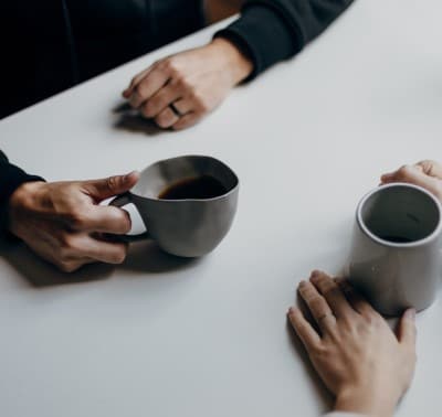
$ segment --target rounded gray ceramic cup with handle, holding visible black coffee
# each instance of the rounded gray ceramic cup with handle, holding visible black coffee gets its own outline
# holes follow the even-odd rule
[[[159,199],[169,186],[202,175],[214,178],[227,191],[211,199]],[[186,156],[146,168],[134,189],[110,204],[133,203],[143,218],[147,232],[126,235],[127,239],[152,238],[169,254],[199,257],[213,250],[229,232],[238,195],[239,179],[227,164],[211,157]]]

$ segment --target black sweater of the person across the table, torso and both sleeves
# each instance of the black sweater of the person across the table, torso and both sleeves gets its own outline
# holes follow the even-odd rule
[[[215,36],[231,40],[251,57],[253,78],[299,52],[351,2],[249,0],[240,19]],[[3,1],[0,118],[201,25],[200,0]],[[0,229],[10,195],[35,180],[41,179],[0,153]]]

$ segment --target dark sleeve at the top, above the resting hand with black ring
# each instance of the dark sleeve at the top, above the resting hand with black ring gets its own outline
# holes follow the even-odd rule
[[[298,53],[352,0],[248,0],[240,19],[218,32],[254,64],[250,78]]]

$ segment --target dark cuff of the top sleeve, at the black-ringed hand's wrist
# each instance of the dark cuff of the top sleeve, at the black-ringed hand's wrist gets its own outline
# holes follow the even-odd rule
[[[240,19],[214,36],[228,39],[252,60],[254,68],[246,81],[273,64],[292,57],[303,47],[302,40],[293,35],[293,29],[276,11],[257,4],[245,8]]]

